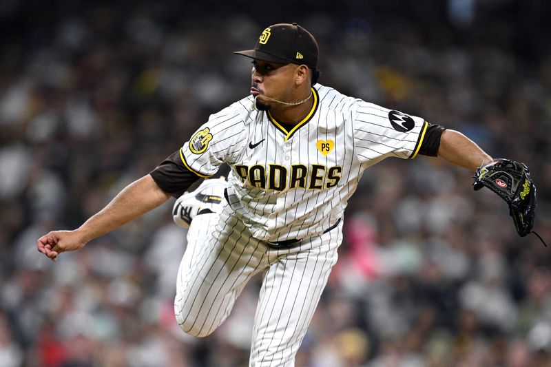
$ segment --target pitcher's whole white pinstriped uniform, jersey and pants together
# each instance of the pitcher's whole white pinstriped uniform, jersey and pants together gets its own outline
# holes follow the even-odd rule
[[[202,176],[215,174],[222,162],[232,170],[222,213],[191,222],[176,319],[186,333],[209,335],[251,277],[263,273],[251,366],[293,366],[337,261],[340,219],[364,170],[387,157],[413,158],[426,127],[422,118],[329,87],[318,84],[313,92],[313,109],[298,129],[287,131],[258,112],[249,96],[200,127],[200,138],[211,134],[208,146],[196,139],[193,151],[189,142],[180,150]],[[300,246],[290,249],[267,243],[295,238]]]

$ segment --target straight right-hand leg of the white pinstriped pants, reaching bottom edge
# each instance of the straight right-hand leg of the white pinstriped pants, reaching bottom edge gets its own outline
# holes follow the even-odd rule
[[[255,315],[251,366],[294,366],[331,268],[337,262],[342,224],[288,251],[269,249]]]

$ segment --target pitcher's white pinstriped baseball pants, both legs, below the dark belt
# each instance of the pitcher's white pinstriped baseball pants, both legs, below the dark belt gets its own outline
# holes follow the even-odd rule
[[[231,208],[196,216],[189,228],[174,301],[176,320],[204,337],[228,317],[245,284],[263,272],[250,366],[294,366],[342,242],[342,221],[291,249],[253,238]]]

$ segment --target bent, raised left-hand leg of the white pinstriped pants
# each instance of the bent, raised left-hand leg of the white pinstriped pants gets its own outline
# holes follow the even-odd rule
[[[229,208],[196,216],[187,240],[174,312],[185,333],[203,337],[224,322],[245,284],[267,266],[267,255]]]

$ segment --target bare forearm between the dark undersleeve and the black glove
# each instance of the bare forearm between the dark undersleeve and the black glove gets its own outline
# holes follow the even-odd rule
[[[444,130],[442,133],[438,156],[472,172],[476,171],[484,163],[493,160],[475,142],[460,132],[449,129]]]

